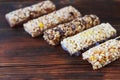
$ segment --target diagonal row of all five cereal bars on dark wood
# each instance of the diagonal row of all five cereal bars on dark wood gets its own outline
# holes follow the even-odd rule
[[[120,37],[108,40],[116,36],[116,30],[109,23],[100,24],[96,15],[81,17],[72,6],[56,10],[55,4],[47,0],[12,11],[5,17],[11,27],[23,24],[32,37],[43,34],[50,45],[61,44],[70,55],[82,53],[93,69],[120,58]]]

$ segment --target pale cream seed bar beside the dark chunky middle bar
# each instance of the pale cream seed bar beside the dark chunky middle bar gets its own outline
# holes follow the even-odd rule
[[[71,55],[80,54],[97,42],[116,35],[116,30],[109,23],[102,23],[61,41],[61,46]]]

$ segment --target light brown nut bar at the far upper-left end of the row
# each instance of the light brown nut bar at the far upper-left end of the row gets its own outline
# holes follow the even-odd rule
[[[55,4],[53,4],[49,0],[46,0],[29,7],[12,11],[6,14],[5,17],[10,26],[15,27],[16,25],[23,24],[30,19],[39,17],[43,14],[50,13],[55,9]]]

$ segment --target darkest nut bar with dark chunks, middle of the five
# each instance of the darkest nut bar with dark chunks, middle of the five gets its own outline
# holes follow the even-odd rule
[[[58,45],[64,38],[75,35],[99,23],[100,20],[96,15],[85,15],[84,17],[78,17],[71,22],[46,30],[43,37],[50,45],[54,46]]]

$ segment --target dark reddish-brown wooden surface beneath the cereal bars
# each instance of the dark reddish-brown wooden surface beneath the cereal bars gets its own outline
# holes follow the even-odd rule
[[[83,15],[96,14],[120,35],[120,0],[52,0],[57,9],[73,5]],[[120,59],[93,71],[87,61],[71,57],[60,46],[41,37],[31,38],[22,28],[12,29],[7,12],[40,0],[0,0],[0,80],[120,80]]]

